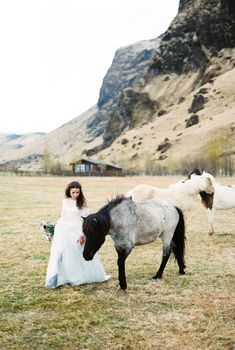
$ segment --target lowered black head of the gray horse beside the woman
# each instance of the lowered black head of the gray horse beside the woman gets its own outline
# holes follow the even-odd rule
[[[105,236],[110,228],[108,218],[91,214],[84,218],[83,233],[85,235],[85,244],[83,257],[85,260],[92,260],[95,253],[100,249],[105,241]]]

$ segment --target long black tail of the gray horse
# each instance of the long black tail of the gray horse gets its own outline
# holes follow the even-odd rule
[[[175,255],[176,260],[180,258],[180,260],[183,262],[185,267],[185,260],[184,260],[184,253],[185,253],[185,221],[184,221],[184,215],[182,210],[175,207],[179,214],[179,221],[175,228],[175,232],[172,238],[172,250]]]

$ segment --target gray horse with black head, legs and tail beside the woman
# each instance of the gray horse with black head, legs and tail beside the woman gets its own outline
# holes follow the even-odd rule
[[[163,200],[135,203],[131,198],[117,196],[97,213],[84,218],[83,232],[86,240],[83,250],[85,260],[92,260],[110,234],[118,253],[118,279],[120,288],[127,288],[125,260],[135,245],[162,240],[162,262],[153,278],[161,278],[173,251],[184,275],[185,225],[180,209]]]

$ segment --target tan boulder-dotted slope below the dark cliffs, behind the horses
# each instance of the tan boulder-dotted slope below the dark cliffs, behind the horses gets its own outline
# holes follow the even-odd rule
[[[208,169],[206,159],[224,155],[235,164],[234,86],[235,68],[182,96],[166,114],[126,128],[99,156],[128,169],[159,173],[196,165]]]

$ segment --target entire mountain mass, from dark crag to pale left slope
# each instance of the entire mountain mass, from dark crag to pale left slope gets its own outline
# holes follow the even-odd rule
[[[117,50],[97,106],[9,160],[24,166],[45,147],[65,163],[83,154],[140,170],[182,168],[214,146],[234,158],[234,86],[234,1],[181,0],[163,35]]]

